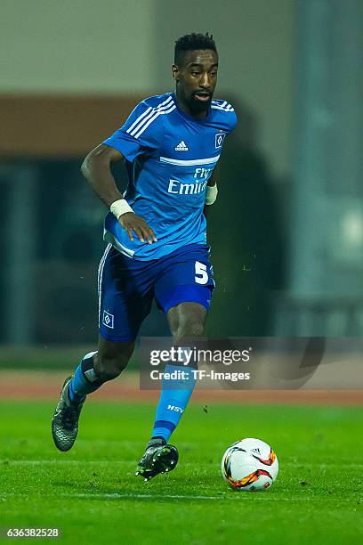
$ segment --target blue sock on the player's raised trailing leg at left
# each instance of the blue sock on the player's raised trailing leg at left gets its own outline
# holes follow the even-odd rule
[[[71,403],[83,403],[85,396],[98,390],[103,381],[97,378],[93,369],[93,355],[97,352],[85,354],[84,359],[77,367],[75,376],[69,383],[69,401]]]

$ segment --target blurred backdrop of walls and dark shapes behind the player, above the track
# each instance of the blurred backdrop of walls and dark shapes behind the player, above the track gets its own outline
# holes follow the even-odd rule
[[[80,166],[137,102],[173,90],[174,41],[192,31],[214,34],[215,98],[239,118],[208,225],[209,335],[361,335],[361,0],[0,9],[2,362],[13,346],[95,345],[105,208]],[[155,308],[142,333],[167,334]]]

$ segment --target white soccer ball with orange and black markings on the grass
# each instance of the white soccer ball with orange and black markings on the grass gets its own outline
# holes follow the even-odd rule
[[[260,439],[242,439],[224,452],[222,476],[233,490],[264,491],[278,476],[278,458]]]

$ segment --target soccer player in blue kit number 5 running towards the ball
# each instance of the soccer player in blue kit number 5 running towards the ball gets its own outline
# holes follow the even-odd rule
[[[173,346],[203,334],[214,290],[204,207],[216,199],[213,170],[237,122],[228,102],[212,100],[217,69],[212,36],[179,38],[172,66],[175,91],[138,104],[82,165],[87,182],[109,208],[104,227],[109,244],[98,273],[98,349],[66,379],[52,419],[60,451],[69,451],[76,441],[86,395],[125,369],[153,298],[166,314]],[[124,195],[111,173],[122,160],[129,177]],[[180,370],[178,364],[183,362],[168,363],[165,371]],[[162,383],[136,475],[148,480],[176,466],[178,451],[168,441],[194,382],[183,380],[180,388]]]

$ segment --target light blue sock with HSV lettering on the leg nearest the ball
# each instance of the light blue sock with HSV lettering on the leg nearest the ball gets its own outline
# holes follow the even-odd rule
[[[173,371],[184,372],[186,373],[184,376],[188,376],[188,378],[183,379],[182,375],[179,375],[181,378],[176,380],[163,378],[152,437],[163,437],[166,443],[175,427],[178,426],[196,384],[190,367],[170,363],[165,365],[165,373]]]

